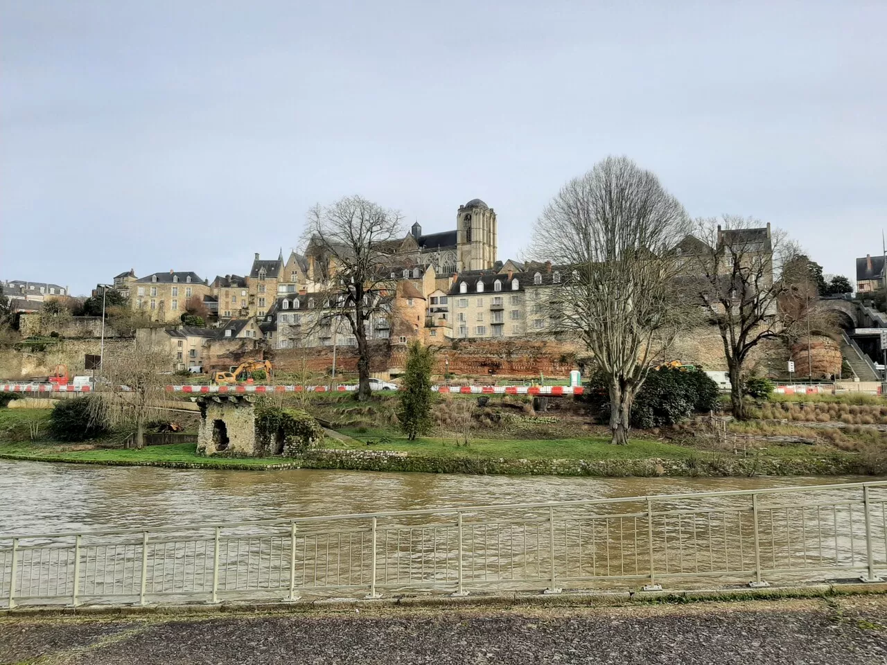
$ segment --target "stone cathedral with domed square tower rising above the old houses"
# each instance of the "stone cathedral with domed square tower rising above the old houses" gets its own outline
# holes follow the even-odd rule
[[[456,212],[456,229],[422,235],[414,223],[404,246],[406,252],[418,250],[418,262],[433,266],[439,276],[465,270],[490,270],[496,263],[496,212],[480,199],[472,199]],[[412,252],[411,252],[412,250]]]

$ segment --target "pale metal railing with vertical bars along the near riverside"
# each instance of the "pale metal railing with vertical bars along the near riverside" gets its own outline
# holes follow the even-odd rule
[[[876,581],[885,505],[878,481],[0,536],[0,603]]]

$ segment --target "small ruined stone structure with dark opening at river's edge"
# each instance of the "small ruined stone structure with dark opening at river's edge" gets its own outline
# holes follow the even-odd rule
[[[203,455],[226,452],[257,454],[255,406],[252,397],[214,395],[198,401],[200,426],[197,451]]]

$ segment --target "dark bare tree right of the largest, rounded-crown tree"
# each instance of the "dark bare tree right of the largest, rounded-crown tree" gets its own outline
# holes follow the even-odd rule
[[[809,322],[816,285],[797,261],[797,246],[781,231],[751,218],[699,219],[684,243],[689,295],[718,326],[730,373],[730,401],[745,419],[742,381],[751,351],[763,340],[797,331]]]

